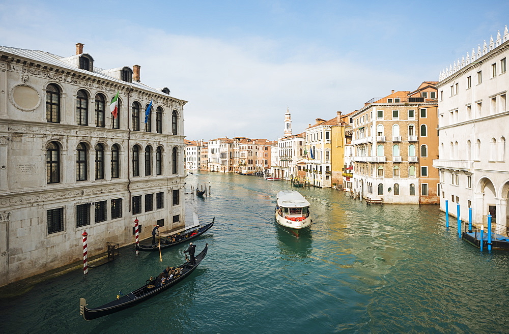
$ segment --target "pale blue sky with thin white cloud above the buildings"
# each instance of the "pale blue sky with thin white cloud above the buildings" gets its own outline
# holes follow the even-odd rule
[[[187,139],[277,140],[439,72],[509,24],[509,1],[0,0],[0,45],[102,69],[140,65],[184,107]]]

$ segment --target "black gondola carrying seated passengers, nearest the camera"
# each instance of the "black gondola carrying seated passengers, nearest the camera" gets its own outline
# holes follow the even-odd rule
[[[92,320],[99,317],[103,317],[105,315],[109,315],[118,311],[125,310],[134,306],[142,301],[149,299],[150,297],[155,296],[156,294],[168,289],[169,287],[177,284],[178,282],[184,280],[194,269],[202,262],[205,255],[207,255],[208,244],[205,244],[205,248],[203,251],[195,257],[195,265],[191,265],[190,261],[185,262],[180,265],[178,268],[181,269],[181,274],[175,278],[172,278],[169,282],[160,285],[158,279],[151,279],[147,284],[143,287],[134,290],[126,295],[121,296],[114,301],[110,301],[103,306],[97,308],[87,308],[87,300],[85,298],[79,298],[79,314],[83,316],[85,320]],[[187,257],[187,256],[186,256]]]

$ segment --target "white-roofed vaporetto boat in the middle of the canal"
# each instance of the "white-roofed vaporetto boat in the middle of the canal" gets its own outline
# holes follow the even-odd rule
[[[296,236],[309,227],[313,220],[309,215],[309,202],[298,191],[284,190],[276,196],[276,221]]]

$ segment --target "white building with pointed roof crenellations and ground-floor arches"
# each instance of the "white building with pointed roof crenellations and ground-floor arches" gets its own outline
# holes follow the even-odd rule
[[[507,58],[509,32],[497,34],[477,51],[440,72],[439,159],[440,208],[468,221],[468,208],[477,226],[487,225],[493,216],[493,230],[507,233],[507,196],[509,161],[506,140],[509,136],[509,89]]]

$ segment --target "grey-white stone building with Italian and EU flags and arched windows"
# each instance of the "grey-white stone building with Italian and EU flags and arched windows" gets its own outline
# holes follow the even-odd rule
[[[134,242],[136,218],[141,238],[185,224],[186,101],[82,48],[0,46],[0,285],[82,259],[84,231],[93,256]]]

